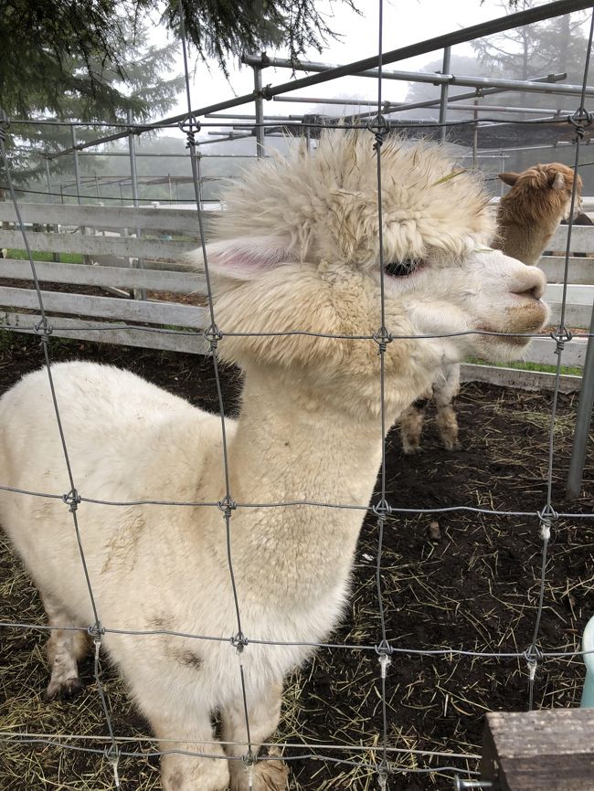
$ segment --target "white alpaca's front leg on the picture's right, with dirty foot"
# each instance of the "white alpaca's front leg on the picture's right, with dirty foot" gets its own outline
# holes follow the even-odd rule
[[[259,753],[257,746],[273,733],[281,719],[282,684],[271,684],[267,689],[249,695],[248,721],[249,736],[251,739],[254,757]],[[231,775],[230,791],[248,791],[249,767],[240,757],[248,753],[248,733],[246,727],[246,713],[243,701],[228,703],[221,710],[223,720],[223,742],[225,751],[231,760],[229,772]],[[269,752],[280,754],[279,751]],[[251,768],[251,782],[253,791],[284,791],[287,787],[289,771],[280,759],[267,759],[259,761]]]

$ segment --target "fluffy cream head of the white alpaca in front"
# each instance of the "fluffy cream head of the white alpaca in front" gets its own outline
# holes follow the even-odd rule
[[[493,216],[474,174],[447,149],[390,138],[381,149],[385,321],[392,335],[535,332],[545,279],[486,245]],[[260,161],[230,188],[207,248],[224,359],[274,366],[341,403],[378,405],[377,153],[369,132]],[[290,334],[301,331],[301,334]],[[232,332],[285,333],[281,336]],[[334,340],[313,334],[373,336]],[[517,356],[525,339],[479,334],[388,341],[386,392],[402,409],[438,365]],[[390,406],[388,405],[388,406]]]

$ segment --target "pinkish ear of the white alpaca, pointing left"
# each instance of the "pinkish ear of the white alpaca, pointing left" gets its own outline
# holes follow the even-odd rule
[[[200,248],[190,253],[190,258],[195,266],[204,267]],[[296,260],[289,237],[238,237],[207,245],[208,270],[224,278],[249,280]]]

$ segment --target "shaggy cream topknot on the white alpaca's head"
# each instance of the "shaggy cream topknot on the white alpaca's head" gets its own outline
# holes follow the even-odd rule
[[[396,134],[381,148],[384,257],[461,256],[488,243],[493,214],[482,179],[447,146]],[[284,237],[301,260],[377,264],[377,153],[367,131],[324,132],[312,153],[296,145],[260,160],[223,196],[218,239]]]

